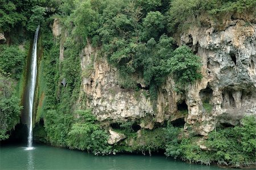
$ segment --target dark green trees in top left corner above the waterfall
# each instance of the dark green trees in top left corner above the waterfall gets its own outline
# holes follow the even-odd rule
[[[26,27],[28,31],[34,32],[48,15],[58,9],[59,2],[56,0],[1,0],[0,28],[2,31],[10,32],[14,27]]]

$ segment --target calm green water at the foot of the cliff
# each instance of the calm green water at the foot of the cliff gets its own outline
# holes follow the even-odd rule
[[[50,146],[3,146],[0,148],[0,169],[161,169],[161,170],[212,170],[216,166],[187,164],[166,159],[165,156],[111,155],[94,156]]]

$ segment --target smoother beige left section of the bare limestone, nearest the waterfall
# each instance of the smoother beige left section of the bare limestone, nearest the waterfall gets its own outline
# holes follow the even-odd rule
[[[97,50],[89,43],[81,58],[86,105],[92,108],[98,120],[135,119],[154,113],[150,98],[144,96],[143,90],[122,89],[118,85],[115,68],[110,67],[106,59],[98,59]]]

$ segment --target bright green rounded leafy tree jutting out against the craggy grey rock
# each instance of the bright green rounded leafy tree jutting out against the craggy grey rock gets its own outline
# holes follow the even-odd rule
[[[190,48],[181,46],[174,51],[174,56],[168,59],[168,71],[170,71],[180,85],[195,82],[202,78],[200,73],[200,57],[193,55]]]

